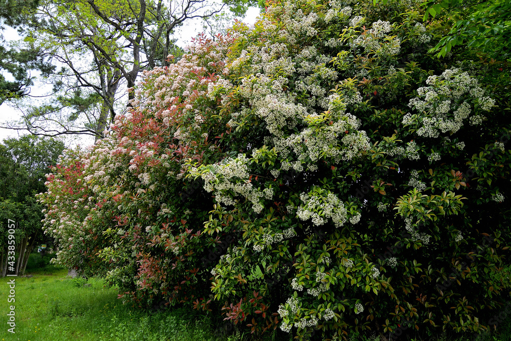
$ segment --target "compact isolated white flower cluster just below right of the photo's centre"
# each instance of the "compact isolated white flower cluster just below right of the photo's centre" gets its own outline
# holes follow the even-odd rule
[[[312,218],[313,224],[318,226],[331,218],[335,226],[339,228],[347,219],[344,204],[331,192],[328,192],[326,196],[317,192],[312,192],[310,195],[301,193],[300,199],[304,204],[298,207],[296,215],[301,220]]]

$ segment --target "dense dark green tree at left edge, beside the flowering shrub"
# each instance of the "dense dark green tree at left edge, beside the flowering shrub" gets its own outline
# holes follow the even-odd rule
[[[2,277],[8,268],[7,220],[16,222],[16,267],[21,274],[27,266],[28,256],[37,242],[43,240],[43,206],[36,202],[35,194],[45,192],[44,185],[50,166],[57,163],[64,144],[54,139],[41,139],[26,135],[19,139],[6,139],[0,144],[0,248]]]

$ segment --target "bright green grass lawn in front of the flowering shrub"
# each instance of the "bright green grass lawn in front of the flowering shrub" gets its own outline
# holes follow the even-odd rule
[[[117,292],[103,281],[67,278],[66,269],[47,267],[32,271],[32,278],[16,277],[15,303],[7,303],[11,278],[0,279],[0,340],[22,341],[245,341],[248,334],[226,332],[207,317],[184,309],[151,314],[123,306]],[[9,306],[15,305],[16,333],[7,332]],[[354,335],[353,335],[354,336]],[[268,340],[281,341],[276,334]],[[286,341],[288,338],[286,338]],[[474,341],[474,337],[440,337],[427,341]],[[511,340],[511,316],[499,333],[477,341]],[[350,341],[380,341],[352,337]],[[417,340],[418,341],[418,340]],[[426,340],[424,340],[426,341]]]

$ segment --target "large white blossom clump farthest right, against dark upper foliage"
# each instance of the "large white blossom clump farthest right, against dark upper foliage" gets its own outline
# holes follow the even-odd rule
[[[453,134],[467,119],[470,124],[479,125],[485,118],[475,111],[474,104],[482,111],[490,111],[495,104],[494,99],[484,96],[475,78],[458,68],[446,70],[439,76],[429,76],[426,84],[428,86],[417,89],[419,96],[408,103],[418,114],[408,113],[403,118],[405,126],[418,128],[419,136],[436,138],[440,133]],[[434,158],[430,156],[430,161]]]

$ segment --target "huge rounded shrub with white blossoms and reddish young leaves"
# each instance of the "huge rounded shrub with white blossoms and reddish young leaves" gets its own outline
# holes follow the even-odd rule
[[[354,3],[271,3],[146,71],[39,196],[56,261],[254,333],[490,328],[511,285],[508,75],[433,59],[442,22],[413,0]]]

